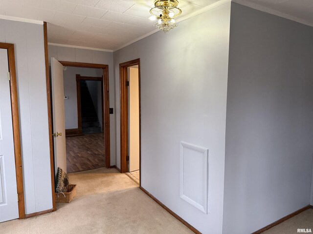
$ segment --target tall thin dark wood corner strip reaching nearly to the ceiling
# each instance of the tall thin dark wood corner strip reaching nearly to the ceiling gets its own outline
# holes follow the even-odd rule
[[[47,105],[48,105],[48,131],[49,131],[49,150],[50,150],[50,171],[51,171],[51,191],[52,191],[52,211],[56,211],[56,203],[54,196],[54,157],[53,157],[53,139],[52,139],[52,111],[51,111],[51,93],[50,93],[50,76],[49,76],[49,59],[48,59],[48,36],[47,22],[44,22],[44,43],[45,43],[45,82],[47,90]]]

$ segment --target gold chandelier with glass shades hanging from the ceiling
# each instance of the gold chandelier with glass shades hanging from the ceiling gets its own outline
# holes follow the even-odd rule
[[[151,8],[149,20],[156,20],[153,24],[164,33],[177,27],[175,17],[181,14],[177,7],[178,0],[155,0],[155,7]]]

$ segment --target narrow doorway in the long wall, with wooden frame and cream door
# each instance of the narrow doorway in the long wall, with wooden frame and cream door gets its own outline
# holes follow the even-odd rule
[[[120,64],[121,172],[140,185],[140,59]]]

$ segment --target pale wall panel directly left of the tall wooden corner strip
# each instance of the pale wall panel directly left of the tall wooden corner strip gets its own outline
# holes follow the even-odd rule
[[[51,209],[51,174],[43,27],[26,24],[28,82],[33,145],[36,212]]]

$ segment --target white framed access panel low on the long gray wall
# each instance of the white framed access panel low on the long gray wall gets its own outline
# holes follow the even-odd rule
[[[207,214],[209,150],[180,142],[180,198]]]

